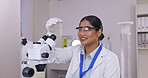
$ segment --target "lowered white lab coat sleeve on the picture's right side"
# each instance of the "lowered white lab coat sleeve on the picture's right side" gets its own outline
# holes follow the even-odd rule
[[[110,53],[106,59],[104,78],[120,78],[119,60],[114,53]]]

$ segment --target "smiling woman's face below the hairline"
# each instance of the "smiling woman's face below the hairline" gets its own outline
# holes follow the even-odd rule
[[[83,20],[80,23],[80,27],[91,27],[92,26],[89,21]],[[101,36],[101,30],[99,29],[96,31],[95,29],[90,29],[90,30],[84,30],[83,28],[78,32],[78,37],[82,45],[84,46],[92,46],[92,45],[98,45],[98,38]]]

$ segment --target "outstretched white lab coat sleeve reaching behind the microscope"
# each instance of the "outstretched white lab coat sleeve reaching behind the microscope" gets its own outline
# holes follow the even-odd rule
[[[73,50],[78,46],[70,46],[66,48],[54,48],[50,53],[48,63],[69,63],[73,56]]]

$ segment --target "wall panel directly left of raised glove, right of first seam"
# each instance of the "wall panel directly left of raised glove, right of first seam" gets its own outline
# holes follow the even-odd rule
[[[33,38],[39,40],[47,33],[46,21],[49,19],[49,0],[34,0],[33,4]]]

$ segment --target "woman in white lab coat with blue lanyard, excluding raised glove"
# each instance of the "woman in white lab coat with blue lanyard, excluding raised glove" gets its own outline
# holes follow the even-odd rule
[[[78,29],[81,45],[55,48],[50,63],[70,63],[66,78],[120,78],[118,57],[105,49],[101,20],[93,15],[84,17]]]

